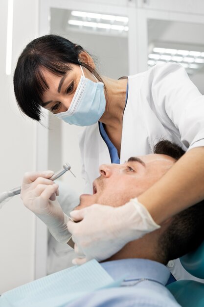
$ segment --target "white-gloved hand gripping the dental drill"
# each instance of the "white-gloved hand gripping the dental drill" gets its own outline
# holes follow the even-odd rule
[[[48,179],[52,175],[52,171],[25,173],[21,198],[23,204],[47,225],[58,242],[67,243],[71,237],[67,228],[68,216],[56,201],[58,184]]]

